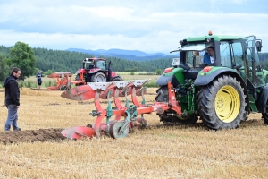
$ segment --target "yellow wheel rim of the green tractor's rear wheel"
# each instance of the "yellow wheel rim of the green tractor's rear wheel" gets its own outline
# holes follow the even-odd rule
[[[216,94],[214,107],[217,116],[224,123],[230,123],[239,115],[239,93],[231,86],[222,87]]]

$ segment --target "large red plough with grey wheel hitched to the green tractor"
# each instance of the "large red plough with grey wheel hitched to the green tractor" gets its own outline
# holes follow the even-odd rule
[[[128,135],[130,130],[137,127],[147,127],[147,121],[144,114],[157,112],[163,114],[166,110],[176,111],[181,115],[181,108],[175,99],[175,93],[172,90],[172,84],[168,83],[169,102],[155,102],[153,105],[146,105],[144,94],[146,88],[143,85],[149,80],[136,81],[113,81],[113,82],[88,82],[87,85],[77,86],[71,90],[62,93],[63,98],[72,100],[88,100],[95,101],[96,110],[90,115],[96,116],[95,124],[88,126],[71,127],[63,130],[63,136],[70,139],[80,139],[81,137],[100,137],[101,135],[109,135],[114,139],[123,138]],[[133,105],[129,105],[128,95],[131,95]],[[137,96],[142,97],[141,103]],[[111,105],[111,98],[115,107]],[[119,97],[125,98],[125,105],[121,104]],[[100,103],[101,99],[107,100],[107,107],[104,108]],[[114,119],[111,117],[114,115]],[[138,115],[140,115],[138,117]],[[121,119],[123,118],[123,119]]]

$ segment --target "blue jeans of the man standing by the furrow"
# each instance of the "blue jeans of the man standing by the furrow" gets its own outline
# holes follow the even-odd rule
[[[13,130],[20,130],[17,121],[18,121],[18,107],[16,105],[7,106],[7,119],[4,126],[4,131],[10,131],[11,125],[13,125]]]

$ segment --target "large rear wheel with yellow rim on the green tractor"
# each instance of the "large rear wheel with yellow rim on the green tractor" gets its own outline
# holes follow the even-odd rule
[[[198,93],[198,112],[203,123],[214,130],[235,129],[247,119],[246,96],[236,78],[223,75]]]

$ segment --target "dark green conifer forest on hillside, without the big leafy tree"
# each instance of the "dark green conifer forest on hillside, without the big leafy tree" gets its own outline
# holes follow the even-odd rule
[[[11,47],[0,46],[0,54],[6,58]],[[94,57],[80,52],[70,52],[65,50],[52,50],[46,48],[32,48],[37,57],[36,67],[43,72],[52,70],[55,72],[76,72],[82,67],[82,60],[86,57]],[[264,69],[268,69],[268,53],[260,53],[260,61]],[[104,56],[98,56],[104,57]],[[104,57],[108,62],[112,61],[112,69],[115,72],[155,72],[157,69],[164,70],[172,66],[172,57],[163,59],[130,61],[116,57]]]

